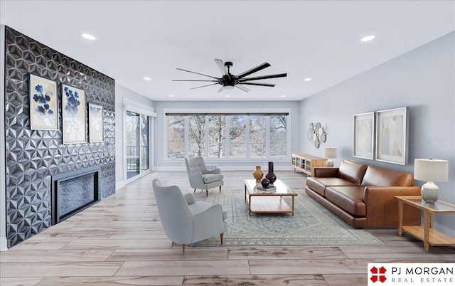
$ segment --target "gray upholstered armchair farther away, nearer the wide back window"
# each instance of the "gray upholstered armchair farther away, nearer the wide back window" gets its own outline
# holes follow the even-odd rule
[[[223,174],[220,169],[208,170],[205,167],[202,157],[185,158],[186,171],[188,171],[188,180],[191,188],[205,190],[205,196],[208,196],[208,190],[223,186]]]

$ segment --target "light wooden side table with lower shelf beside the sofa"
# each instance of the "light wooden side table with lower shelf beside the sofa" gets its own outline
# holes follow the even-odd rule
[[[401,236],[402,231],[406,231],[419,240],[423,240],[426,251],[429,250],[429,245],[455,245],[455,238],[433,229],[434,214],[455,213],[455,205],[445,201],[425,203],[421,196],[395,196],[395,198],[398,200],[398,235]],[[405,203],[423,211],[423,226],[403,226],[403,206]]]

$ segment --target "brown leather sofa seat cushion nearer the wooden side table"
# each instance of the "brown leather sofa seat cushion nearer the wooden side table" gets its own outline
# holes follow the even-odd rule
[[[326,198],[353,216],[366,216],[362,186],[328,186]]]

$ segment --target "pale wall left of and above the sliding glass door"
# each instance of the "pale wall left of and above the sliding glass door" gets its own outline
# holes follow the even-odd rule
[[[154,101],[139,95],[139,93],[115,84],[115,183],[116,189],[123,186],[126,181],[124,176],[126,161],[124,161],[123,148],[123,120],[124,104],[137,105],[147,110],[153,110]]]

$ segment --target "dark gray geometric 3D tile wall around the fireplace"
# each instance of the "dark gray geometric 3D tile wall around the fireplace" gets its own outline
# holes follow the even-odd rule
[[[101,165],[101,198],[115,192],[115,81],[5,27],[6,238],[8,247],[51,226],[51,176]],[[63,144],[59,130],[31,130],[28,73],[85,90],[104,109],[105,142]],[[88,128],[87,128],[88,130]],[[88,136],[88,134],[87,134]]]

